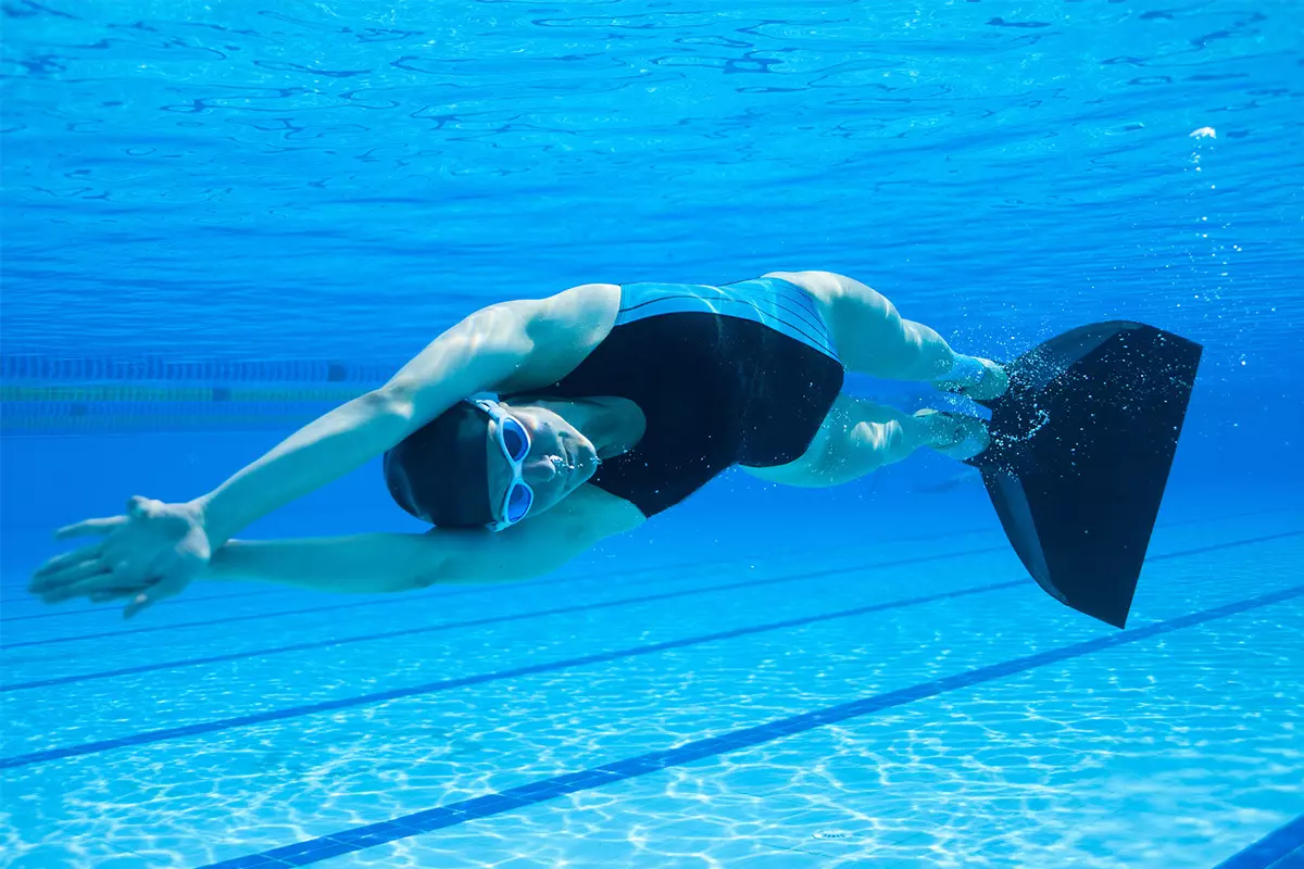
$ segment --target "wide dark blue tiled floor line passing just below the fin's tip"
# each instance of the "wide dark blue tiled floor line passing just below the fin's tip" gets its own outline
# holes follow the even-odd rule
[[[1072,661],[1073,658],[1081,658],[1097,651],[1103,651],[1106,649],[1115,649],[1132,642],[1150,640],[1164,633],[1180,631],[1181,628],[1191,628],[1197,624],[1226,619],[1231,615],[1257,610],[1273,603],[1282,603],[1299,597],[1304,597],[1304,585],[1296,585],[1290,589],[1261,594],[1245,601],[1236,601],[1235,603],[1202,610],[1200,612],[1179,616],[1176,619],[1168,619],[1167,621],[1157,621],[1154,624],[1145,625],[1144,628],[1131,628],[1119,633],[1095,637],[1094,640],[1086,640],[1084,642],[1060,646],[1059,649],[1041,651],[1034,655],[1015,658],[990,667],[978,667],[977,670],[969,670],[953,676],[944,676],[941,679],[911,685],[909,688],[889,691],[887,693],[865,697],[862,700],[853,700],[848,704],[829,706],[827,709],[805,713],[802,715],[793,715],[792,718],[782,718],[765,724],[758,724],[756,727],[732,731],[721,736],[700,739],[686,745],[681,745],[679,748],[648,752],[647,754],[627,757],[625,760],[604,763],[602,766],[595,766],[578,773],[567,773],[565,775],[539,779],[529,782],[528,784],[499,791],[497,793],[488,793],[471,800],[450,803],[449,805],[426,809],[424,812],[413,812],[412,814],[404,814],[391,821],[369,823],[366,826],[342,830],[327,836],[309,839],[297,844],[273,848],[262,853],[209,864],[206,866],[201,866],[201,869],[253,869],[254,866],[279,869],[284,865],[306,866],[329,857],[353,853],[365,848],[394,842],[396,839],[406,839],[422,833],[443,830],[459,823],[466,823],[467,821],[477,821],[481,818],[490,818],[497,814],[505,814],[514,809],[546,803],[548,800],[553,800],[567,793],[589,791],[614,782],[623,782],[640,775],[647,775],[648,773],[657,773],[664,769],[682,766],[685,763],[702,761],[709,757],[717,757],[720,754],[735,752],[743,748],[755,748],[756,745],[763,745],[794,734],[805,734],[807,731],[824,727],[825,724],[836,724],[838,722],[850,720],[862,715],[879,713],[885,709],[905,706],[918,700],[927,700],[930,697],[936,697],[961,688],[971,688],[995,679],[1028,672],[1029,670],[1034,670],[1037,667],[1061,663]],[[1249,869],[1249,865],[1251,864],[1237,866],[1237,869]],[[1264,864],[1253,865],[1256,865],[1257,869]]]

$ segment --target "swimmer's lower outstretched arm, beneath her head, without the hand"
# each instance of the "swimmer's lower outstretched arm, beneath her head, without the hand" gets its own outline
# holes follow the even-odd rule
[[[231,541],[213,555],[203,578],[359,594],[524,580],[549,573],[642,521],[634,504],[582,486],[546,513],[498,534],[434,529],[425,534]]]

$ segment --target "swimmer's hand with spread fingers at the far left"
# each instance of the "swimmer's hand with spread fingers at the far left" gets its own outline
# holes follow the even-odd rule
[[[46,562],[29,589],[46,603],[85,597],[94,603],[130,598],[123,616],[180,593],[209,564],[213,547],[203,511],[136,496],[124,516],[90,519],[61,528],[56,539],[98,534],[103,539]]]

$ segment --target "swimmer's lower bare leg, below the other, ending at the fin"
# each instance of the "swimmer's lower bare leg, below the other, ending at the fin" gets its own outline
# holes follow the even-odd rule
[[[849,395],[840,395],[806,452],[777,468],[745,468],[755,477],[785,486],[840,486],[930,447],[953,459],[970,459],[988,443],[978,417],[919,410],[905,413]]]

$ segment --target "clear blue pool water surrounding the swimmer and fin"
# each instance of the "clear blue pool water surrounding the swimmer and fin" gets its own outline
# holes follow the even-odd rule
[[[1295,3],[0,10],[0,866],[1304,865]],[[1205,345],[1127,629],[934,455],[520,584],[26,591],[481,305],[801,268]],[[372,463],[248,535],[382,529]]]

